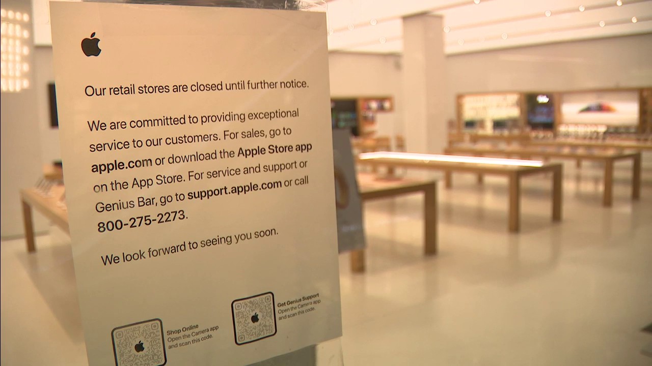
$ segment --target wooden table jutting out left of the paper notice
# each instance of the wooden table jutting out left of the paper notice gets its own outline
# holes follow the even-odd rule
[[[23,204],[23,225],[25,226],[25,241],[27,242],[27,251],[36,251],[34,243],[34,225],[32,221],[32,208],[50,219],[55,225],[63,231],[70,234],[68,229],[68,212],[59,205],[55,197],[47,196],[45,193],[35,188],[20,190],[20,200]]]

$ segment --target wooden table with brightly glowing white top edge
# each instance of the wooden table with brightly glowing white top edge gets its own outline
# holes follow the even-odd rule
[[[468,161],[465,162],[464,160]],[[406,152],[372,152],[361,154],[357,162],[386,167],[443,171],[446,177],[446,188],[451,188],[452,186],[452,172],[507,176],[509,180],[509,222],[507,227],[510,232],[518,232],[520,230],[521,179],[529,175],[552,173],[552,221],[561,221],[561,175],[563,165],[560,163],[475,158],[473,156],[459,157],[434,154],[411,154]]]

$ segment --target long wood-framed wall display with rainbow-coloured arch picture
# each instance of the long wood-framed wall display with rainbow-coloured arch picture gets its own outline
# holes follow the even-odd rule
[[[541,139],[650,141],[650,89],[461,94],[456,143],[523,144]],[[517,97],[518,96],[518,97]],[[518,100],[518,101],[517,101]],[[506,115],[507,121],[497,118]]]

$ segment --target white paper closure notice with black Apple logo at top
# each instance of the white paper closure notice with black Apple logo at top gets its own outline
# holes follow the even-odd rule
[[[91,365],[237,365],[342,332],[323,13],[52,3]]]

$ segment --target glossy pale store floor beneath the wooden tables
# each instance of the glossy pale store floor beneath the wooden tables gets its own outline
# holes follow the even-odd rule
[[[617,164],[614,206],[602,170],[565,165],[564,219],[550,180],[523,185],[522,232],[507,232],[506,182],[454,176],[439,190],[439,250],[422,257],[419,195],[366,204],[368,270],[340,256],[344,337],[323,365],[652,365],[652,167],[642,199]],[[68,238],[27,255],[1,244],[1,365],[85,365]],[[324,354],[323,350],[327,350]],[[332,359],[331,359],[332,360]]]

